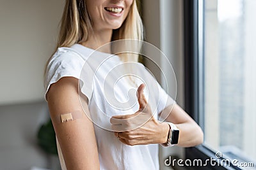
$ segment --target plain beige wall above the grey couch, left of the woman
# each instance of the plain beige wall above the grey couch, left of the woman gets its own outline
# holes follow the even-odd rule
[[[1,0],[0,104],[44,99],[44,66],[56,42],[63,0]]]

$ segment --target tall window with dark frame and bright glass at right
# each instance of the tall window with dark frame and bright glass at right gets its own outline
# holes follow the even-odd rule
[[[205,134],[204,145],[186,153],[221,152],[256,169],[256,1],[184,0],[184,7],[186,110]]]

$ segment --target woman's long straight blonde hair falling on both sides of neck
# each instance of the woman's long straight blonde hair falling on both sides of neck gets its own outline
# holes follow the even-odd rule
[[[66,0],[61,18],[60,33],[54,53],[59,47],[70,47],[75,43],[86,41],[89,32],[93,31],[92,20],[86,10],[86,0]],[[138,39],[143,40],[143,24],[134,0],[131,9],[119,29],[113,30],[112,40]],[[124,56],[125,57],[125,56]],[[137,59],[122,59],[124,61],[138,61]]]

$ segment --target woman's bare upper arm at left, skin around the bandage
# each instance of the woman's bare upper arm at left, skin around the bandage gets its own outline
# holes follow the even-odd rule
[[[80,103],[83,103],[83,108]],[[47,92],[54,131],[60,143],[67,169],[99,169],[97,143],[84,97],[79,98],[77,78],[64,77],[53,83]],[[56,117],[63,113],[81,111],[82,117],[60,123]]]

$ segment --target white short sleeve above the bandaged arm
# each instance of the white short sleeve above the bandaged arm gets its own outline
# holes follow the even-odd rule
[[[54,55],[52,55],[51,60],[47,64],[46,72],[45,72],[45,100],[46,94],[49,90],[49,87],[52,83],[56,83],[63,77],[74,77],[79,80],[79,85],[83,87],[83,94],[88,98],[92,96],[92,89],[89,87],[84,87],[85,83],[81,80],[81,71],[84,66],[84,59],[79,53],[73,52],[72,50],[63,50],[58,49]]]

